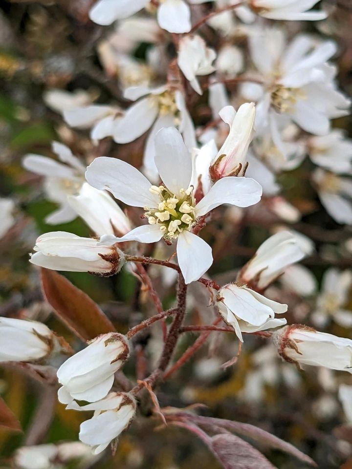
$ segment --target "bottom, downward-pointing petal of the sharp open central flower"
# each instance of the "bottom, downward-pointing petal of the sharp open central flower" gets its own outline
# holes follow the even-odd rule
[[[183,231],[177,240],[177,260],[185,282],[191,283],[211,267],[212,250],[199,236]]]

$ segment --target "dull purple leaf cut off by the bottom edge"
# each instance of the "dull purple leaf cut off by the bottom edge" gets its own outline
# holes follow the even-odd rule
[[[275,469],[258,449],[230,433],[213,436],[211,449],[224,469]]]

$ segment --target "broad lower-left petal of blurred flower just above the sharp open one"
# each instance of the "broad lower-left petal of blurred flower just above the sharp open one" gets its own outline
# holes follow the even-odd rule
[[[133,142],[152,127],[158,112],[154,97],[137,101],[116,124],[113,139],[116,143]]]

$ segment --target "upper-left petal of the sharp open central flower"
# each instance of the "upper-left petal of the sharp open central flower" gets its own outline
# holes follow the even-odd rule
[[[125,161],[101,156],[87,168],[86,179],[96,189],[110,191],[118,200],[132,207],[156,208],[159,198],[149,192],[151,183]]]

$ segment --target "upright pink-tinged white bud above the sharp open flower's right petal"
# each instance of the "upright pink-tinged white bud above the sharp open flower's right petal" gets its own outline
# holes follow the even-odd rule
[[[253,136],[255,106],[254,103],[245,103],[237,112],[232,106],[226,106],[219,115],[230,126],[230,133],[209,168],[213,181],[225,176],[244,175],[247,151]]]

